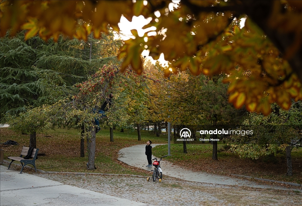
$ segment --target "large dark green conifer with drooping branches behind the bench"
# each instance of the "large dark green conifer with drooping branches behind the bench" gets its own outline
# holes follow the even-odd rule
[[[51,104],[72,93],[72,85],[87,74],[117,62],[121,44],[112,32],[101,40],[90,35],[87,42],[62,36],[57,42],[38,36],[24,41],[24,33],[1,38],[1,121],[4,113],[18,114],[24,106]]]

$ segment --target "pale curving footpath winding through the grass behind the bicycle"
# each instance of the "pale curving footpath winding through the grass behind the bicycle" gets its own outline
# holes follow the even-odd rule
[[[159,144],[152,144],[153,147],[155,147],[156,145]],[[120,156],[118,160],[130,166],[135,166],[144,170],[149,170],[151,173],[151,170],[153,170],[153,168],[146,167],[148,162],[145,155],[145,146],[146,146],[145,144],[139,144],[139,145],[134,145],[132,147],[126,147],[121,149],[119,151]],[[154,157],[152,157],[152,159],[153,158]],[[256,182],[253,181],[242,180],[238,178],[214,175],[205,172],[193,172],[191,170],[186,170],[180,166],[173,165],[172,163],[165,161],[164,158],[161,163],[161,168],[162,168],[163,176],[167,175],[167,176],[176,177],[188,181],[213,183],[213,184],[221,184],[221,185],[249,186],[255,188],[286,189],[285,187],[257,184]]]

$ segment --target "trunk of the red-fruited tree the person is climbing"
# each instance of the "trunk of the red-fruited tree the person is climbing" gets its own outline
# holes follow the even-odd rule
[[[87,151],[88,151],[88,165],[87,170],[94,170],[95,168],[95,131],[96,127],[89,128],[90,135],[87,135]]]

